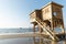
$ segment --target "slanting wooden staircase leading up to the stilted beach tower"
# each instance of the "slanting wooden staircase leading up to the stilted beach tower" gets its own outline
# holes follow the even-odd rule
[[[58,40],[58,37],[56,35],[54,35],[54,33],[51,31],[50,28],[44,25],[44,22],[42,22],[40,19],[35,19],[36,23],[50,35],[50,37],[52,40]]]

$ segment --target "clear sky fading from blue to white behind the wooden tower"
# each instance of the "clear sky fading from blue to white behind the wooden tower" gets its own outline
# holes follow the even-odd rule
[[[0,0],[0,28],[32,28],[29,14],[41,9],[51,0]],[[66,26],[66,0],[53,0],[63,4],[64,24]]]

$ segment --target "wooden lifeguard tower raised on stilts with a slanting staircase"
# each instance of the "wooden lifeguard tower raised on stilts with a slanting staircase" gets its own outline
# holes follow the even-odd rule
[[[33,24],[33,32],[37,25],[40,34],[52,40],[65,38],[64,21],[63,21],[63,6],[48,2],[42,9],[34,10],[30,13],[30,21]],[[61,33],[55,33],[55,28],[61,28]],[[57,29],[58,30],[58,29]]]

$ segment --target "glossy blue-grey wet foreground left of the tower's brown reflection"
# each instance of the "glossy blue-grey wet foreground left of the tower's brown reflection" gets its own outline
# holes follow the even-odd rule
[[[30,38],[7,38],[7,40],[0,40],[0,44],[32,44],[32,41]]]

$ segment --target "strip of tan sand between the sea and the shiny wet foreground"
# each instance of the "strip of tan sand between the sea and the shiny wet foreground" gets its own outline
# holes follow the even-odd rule
[[[38,34],[34,33],[2,33],[0,34],[0,40],[1,38],[16,38],[16,37],[32,37],[32,36],[37,36]]]

